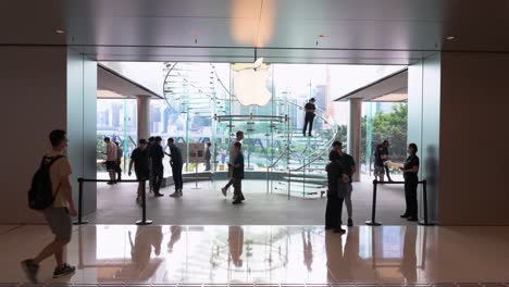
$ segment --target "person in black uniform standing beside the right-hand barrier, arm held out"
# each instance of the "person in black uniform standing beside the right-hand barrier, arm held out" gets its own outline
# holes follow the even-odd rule
[[[405,200],[407,201],[407,210],[401,214],[401,217],[408,221],[418,221],[417,187],[419,182],[419,157],[415,154],[417,151],[418,147],[415,144],[408,145],[408,153],[410,155],[405,161],[404,167],[400,167],[405,177]]]

